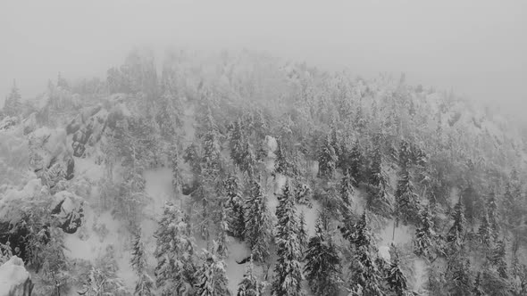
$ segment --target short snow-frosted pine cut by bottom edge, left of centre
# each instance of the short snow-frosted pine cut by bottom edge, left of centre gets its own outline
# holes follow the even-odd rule
[[[203,251],[203,263],[197,270],[196,295],[198,296],[230,296],[225,271],[225,262],[213,253]]]

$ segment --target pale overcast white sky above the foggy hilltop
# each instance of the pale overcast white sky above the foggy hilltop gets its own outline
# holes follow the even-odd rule
[[[485,102],[527,102],[527,1],[0,1],[0,103],[101,76],[134,45],[268,50]],[[526,106],[523,103],[522,106]],[[518,110],[518,108],[515,108]]]

